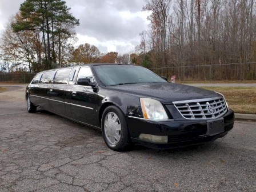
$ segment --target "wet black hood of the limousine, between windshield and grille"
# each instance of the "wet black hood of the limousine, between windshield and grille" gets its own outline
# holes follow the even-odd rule
[[[205,99],[220,96],[214,91],[178,83],[138,83],[115,85],[109,86],[108,88],[121,93],[137,95],[138,97],[154,98],[165,104],[173,101]]]

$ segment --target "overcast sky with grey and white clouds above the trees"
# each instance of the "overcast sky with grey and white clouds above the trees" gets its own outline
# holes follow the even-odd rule
[[[9,18],[25,0],[0,0],[0,33]],[[95,45],[103,53],[129,53],[139,44],[139,33],[147,29],[149,13],[143,0],[66,0],[71,13],[79,19],[78,42]]]

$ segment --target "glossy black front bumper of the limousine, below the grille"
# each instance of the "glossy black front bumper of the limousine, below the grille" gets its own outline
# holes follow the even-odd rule
[[[131,141],[151,148],[170,149],[210,142],[224,137],[234,126],[234,111],[229,109],[222,118],[224,119],[224,131],[213,136],[206,135],[206,120],[149,121],[128,117],[127,126]],[[167,135],[167,143],[143,141],[139,139],[141,134]]]

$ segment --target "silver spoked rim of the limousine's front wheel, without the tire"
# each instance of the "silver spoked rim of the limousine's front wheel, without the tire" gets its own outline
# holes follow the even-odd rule
[[[104,131],[107,141],[112,145],[115,145],[120,141],[122,127],[117,114],[110,112],[105,116]]]

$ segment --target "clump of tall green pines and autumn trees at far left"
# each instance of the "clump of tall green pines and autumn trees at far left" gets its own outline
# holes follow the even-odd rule
[[[51,69],[65,61],[74,27],[79,20],[69,13],[65,1],[27,0],[10,19],[1,38],[2,60],[11,67]]]

